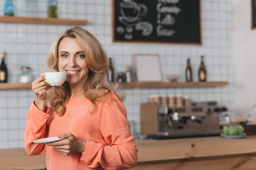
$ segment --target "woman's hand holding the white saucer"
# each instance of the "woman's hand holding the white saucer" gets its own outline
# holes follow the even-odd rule
[[[54,146],[56,150],[60,151],[63,155],[69,156],[75,152],[84,151],[86,141],[77,139],[72,133],[65,133],[58,136],[58,138],[65,138],[61,141],[47,143],[48,146]]]

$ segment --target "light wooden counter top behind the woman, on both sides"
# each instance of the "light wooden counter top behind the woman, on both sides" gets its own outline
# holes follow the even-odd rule
[[[246,136],[244,139],[224,139],[215,136],[143,140],[136,143],[139,150],[138,162],[256,153],[256,136]],[[17,170],[46,169],[45,154],[29,156],[24,148],[0,149],[0,170],[4,167]]]

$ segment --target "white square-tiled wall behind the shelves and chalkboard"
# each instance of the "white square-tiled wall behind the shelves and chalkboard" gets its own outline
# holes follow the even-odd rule
[[[3,15],[5,0],[0,0]],[[46,17],[46,0],[13,0],[15,15]],[[179,74],[184,81],[186,59],[191,58],[193,76],[197,80],[200,55],[205,55],[208,81],[228,81],[224,88],[152,88],[125,90],[125,107],[134,134],[140,133],[140,103],[147,102],[149,94],[181,94],[192,100],[217,100],[234,111],[234,61],[232,40],[232,0],[202,0],[203,45],[158,45],[111,42],[111,0],[58,0],[59,17],[86,18],[83,28],[90,31],[113,57],[116,71],[125,71],[133,65],[136,53],[159,54],[163,77]],[[20,65],[29,65],[38,77],[45,71],[45,62],[51,42],[71,26],[0,23],[0,50],[6,51],[10,82],[17,82]],[[0,148],[23,147],[26,114],[35,96],[31,90],[0,91]]]

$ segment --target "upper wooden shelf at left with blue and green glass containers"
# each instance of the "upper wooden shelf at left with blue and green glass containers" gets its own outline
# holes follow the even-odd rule
[[[88,23],[87,20],[58,18],[57,0],[48,0],[48,17],[18,17],[14,13],[12,0],[6,0],[4,16],[0,16],[0,23],[27,23],[27,24],[50,24],[50,25],[73,25],[81,26]]]

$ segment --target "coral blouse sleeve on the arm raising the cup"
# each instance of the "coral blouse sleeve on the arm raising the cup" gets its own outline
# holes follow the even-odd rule
[[[24,148],[29,155],[41,155],[45,152],[45,144],[34,143],[36,139],[44,138],[49,110],[45,107],[45,112],[39,110],[32,103],[27,115],[26,129],[24,132]]]

